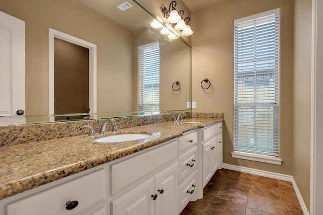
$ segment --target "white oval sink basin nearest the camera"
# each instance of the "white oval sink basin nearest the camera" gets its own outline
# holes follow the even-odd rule
[[[115,134],[110,136],[104,136],[98,139],[94,139],[94,142],[125,142],[125,141],[131,141],[131,140],[137,140],[137,139],[144,139],[152,134],[146,134],[146,133],[121,133],[121,134]]]

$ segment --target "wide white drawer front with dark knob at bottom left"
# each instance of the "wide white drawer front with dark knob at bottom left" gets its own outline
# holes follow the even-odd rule
[[[38,194],[28,196],[7,206],[7,215],[71,215],[105,199],[105,170],[53,187]],[[71,210],[66,203],[78,201]]]

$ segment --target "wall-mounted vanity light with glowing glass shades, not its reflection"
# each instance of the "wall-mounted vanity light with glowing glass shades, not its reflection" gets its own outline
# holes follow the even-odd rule
[[[189,26],[190,18],[186,17],[183,19],[184,11],[176,11],[177,3],[176,1],[171,2],[169,9],[167,10],[166,7],[161,8],[161,12],[163,16],[167,18],[167,21],[172,24],[172,26],[176,29],[181,31],[181,34],[184,36],[189,36],[193,34],[191,27]]]

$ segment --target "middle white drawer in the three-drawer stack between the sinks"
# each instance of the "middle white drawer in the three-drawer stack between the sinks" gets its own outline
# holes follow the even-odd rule
[[[197,169],[197,162],[197,147],[190,149],[178,157],[178,174],[180,181]]]

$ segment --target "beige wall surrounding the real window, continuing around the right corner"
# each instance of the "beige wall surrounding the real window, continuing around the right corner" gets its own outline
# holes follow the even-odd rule
[[[224,163],[294,175],[308,208],[310,4],[309,0],[298,0],[294,12],[294,0],[227,0],[192,13],[194,28],[192,101],[196,101],[197,107],[193,111],[224,113]],[[233,21],[275,8],[280,8],[281,12],[279,132],[279,157],[283,160],[281,166],[231,157],[233,152]],[[296,13],[295,21],[294,13]],[[305,21],[301,21],[302,18],[305,18]],[[301,32],[303,29],[305,32]],[[208,78],[212,83],[209,90],[202,90],[200,87],[204,78]],[[305,83],[301,84],[302,81]]]

